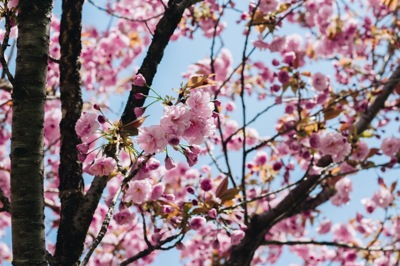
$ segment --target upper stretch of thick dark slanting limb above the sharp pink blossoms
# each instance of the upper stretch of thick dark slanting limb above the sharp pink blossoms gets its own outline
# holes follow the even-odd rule
[[[150,44],[149,50],[143,63],[138,71],[138,74],[143,75],[146,79],[147,85],[151,86],[153,78],[156,75],[157,67],[161,62],[164,55],[165,47],[169,39],[174,34],[175,29],[178,27],[182,14],[186,7],[199,2],[200,0],[170,0],[168,2],[168,9],[165,10],[164,16],[160,19],[154,32],[153,41]],[[136,119],[133,110],[136,107],[142,107],[145,98],[136,99],[135,95],[142,93],[149,94],[147,87],[135,86],[132,84],[132,90],[126,103],[125,110],[122,114],[121,120],[123,124],[127,124]]]

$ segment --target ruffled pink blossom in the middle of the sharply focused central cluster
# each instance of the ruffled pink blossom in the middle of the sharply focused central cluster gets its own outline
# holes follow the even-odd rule
[[[183,135],[185,130],[190,127],[192,118],[189,109],[183,104],[176,106],[165,106],[164,114],[161,116],[160,126],[168,134]]]

